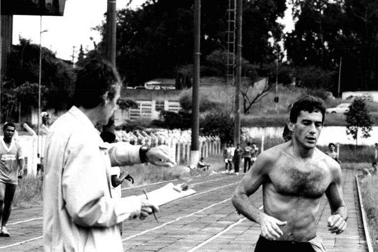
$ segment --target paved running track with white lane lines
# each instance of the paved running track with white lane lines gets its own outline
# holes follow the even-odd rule
[[[260,227],[238,215],[230,200],[242,177],[215,174],[194,178],[190,184],[197,193],[161,206],[161,212],[157,215],[158,223],[154,218],[147,218],[145,221],[124,221],[122,239],[125,251],[253,251]],[[323,238],[327,252],[367,252],[354,172],[343,170],[343,180],[344,196],[349,210],[347,229],[340,235],[328,232],[326,220],[330,215],[330,209],[324,196],[318,215],[318,235]],[[150,191],[165,184],[124,189],[123,195],[142,194],[142,189]],[[261,189],[252,195],[250,200],[256,206],[261,206]],[[12,236],[0,238],[0,252],[42,251],[41,218],[41,208],[13,211],[8,225]],[[18,221],[24,222],[17,223]],[[10,247],[3,248],[4,246]]]

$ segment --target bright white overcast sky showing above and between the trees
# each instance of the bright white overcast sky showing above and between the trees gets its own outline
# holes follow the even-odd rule
[[[117,0],[117,9],[125,8],[129,0]],[[146,0],[132,0],[131,7],[139,7]],[[75,57],[77,57],[80,44],[84,50],[93,49],[93,42],[99,42],[101,37],[91,28],[101,24],[105,20],[103,14],[106,12],[107,0],[66,0],[64,16],[42,17],[41,44],[56,53],[57,57],[64,60],[71,60],[73,46],[75,46]],[[18,44],[19,36],[32,39],[33,43],[39,44],[39,16],[13,17],[13,44]],[[287,30],[293,29],[291,19],[291,8],[285,12],[282,21]]]

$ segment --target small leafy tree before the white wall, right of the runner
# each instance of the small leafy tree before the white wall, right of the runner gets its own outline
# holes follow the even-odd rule
[[[362,130],[362,137],[370,137],[369,132],[372,130],[373,121],[366,108],[365,102],[361,98],[354,99],[345,115],[347,116],[347,135],[352,135],[353,139],[356,140],[357,147],[358,130]]]

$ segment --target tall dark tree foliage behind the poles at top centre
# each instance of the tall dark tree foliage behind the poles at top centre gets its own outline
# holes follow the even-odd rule
[[[180,66],[192,64],[193,11],[191,0],[148,0],[139,9],[125,8],[117,13],[117,67],[126,77],[126,85],[135,86],[156,77],[176,77]],[[201,62],[207,56],[224,51],[227,31],[227,1],[201,2]],[[243,56],[252,63],[274,59],[267,44],[268,31],[279,39],[282,26],[277,17],[284,16],[285,0],[243,0]],[[103,40],[97,52],[87,58],[102,57],[104,26],[97,27]],[[224,70],[223,70],[224,71]],[[182,86],[188,86],[183,75]],[[179,76],[180,78],[182,76]],[[178,85],[179,82],[177,82]],[[190,86],[190,85],[189,85]]]

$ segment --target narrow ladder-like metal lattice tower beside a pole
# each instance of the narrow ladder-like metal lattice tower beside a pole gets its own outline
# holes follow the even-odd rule
[[[236,31],[236,0],[228,0],[227,9],[227,62],[226,62],[226,85],[235,83],[235,31]]]

